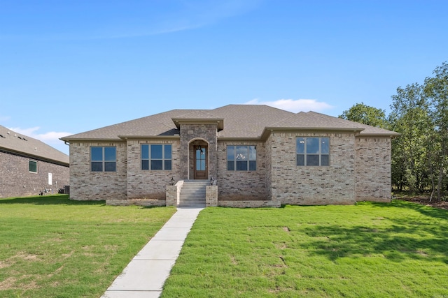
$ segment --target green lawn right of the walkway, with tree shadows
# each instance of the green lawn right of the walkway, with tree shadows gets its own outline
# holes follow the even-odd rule
[[[448,211],[207,208],[162,297],[448,297]]]

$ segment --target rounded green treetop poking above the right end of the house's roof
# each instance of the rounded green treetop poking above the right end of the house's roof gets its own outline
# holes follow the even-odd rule
[[[339,118],[377,126],[379,128],[387,128],[386,112],[376,107],[370,107],[364,103],[356,103],[349,110],[342,112]]]

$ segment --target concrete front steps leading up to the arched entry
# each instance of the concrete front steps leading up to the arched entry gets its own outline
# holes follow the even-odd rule
[[[185,180],[179,197],[179,205],[183,208],[204,208],[205,188],[210,185],[209,180]]]

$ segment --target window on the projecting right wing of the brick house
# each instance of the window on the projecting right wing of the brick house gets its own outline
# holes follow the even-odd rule
[[[329,137],[297,137],[297,165],[330,165]]]

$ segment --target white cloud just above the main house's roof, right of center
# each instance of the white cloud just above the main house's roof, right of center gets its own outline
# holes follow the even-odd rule
[[[332,105],[324,103],[322,101],[317,101],[315,99],[279,99],[274,101],[260,101],[255,98],[251,101],[245,103],[246,105],[269,105],[271,107],[277,107],[281,110],[286,110],[289,112],[321,112],[323,110],[330,110],[333,108]]]

